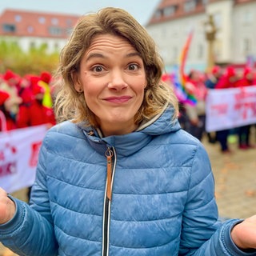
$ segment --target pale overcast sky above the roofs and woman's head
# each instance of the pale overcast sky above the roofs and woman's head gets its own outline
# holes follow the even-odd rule
[[[0,0],[0,13],[3,10],[22,9],[63,14],[86,14],[106,6],[127,10],[142,25],[149,18],[161,0]]]

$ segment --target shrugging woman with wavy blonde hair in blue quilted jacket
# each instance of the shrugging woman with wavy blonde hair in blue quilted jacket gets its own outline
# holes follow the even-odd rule
[[[2,191],[6,246],[20,255],[254,255],[238,246],[256,247],[255,220],[217,220],[209,158],[180,129],[162,67],[126,11],[79,20],[58,69],[61,123],[42,143],[30,206]]]

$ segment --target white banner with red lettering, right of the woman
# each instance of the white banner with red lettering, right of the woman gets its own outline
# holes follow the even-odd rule
[[[225,130],[256,123],[256,86],[209,90],[206,131]]]

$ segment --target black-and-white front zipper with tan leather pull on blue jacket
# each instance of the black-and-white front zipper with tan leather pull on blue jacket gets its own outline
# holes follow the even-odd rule
[[[102,227],[102,256],[109,255],[109,235],[110,235],[110,202],[112,198],[112,185],[115,169],[115,152],[114,148],[108,147],[106,156],[106,192],[103,212]]]

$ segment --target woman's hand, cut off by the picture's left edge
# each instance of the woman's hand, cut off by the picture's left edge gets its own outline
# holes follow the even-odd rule
[[[15,203],[7,197],[5,190],[0,187],[0,224],[9,222],[15,214]]]

